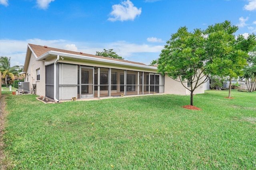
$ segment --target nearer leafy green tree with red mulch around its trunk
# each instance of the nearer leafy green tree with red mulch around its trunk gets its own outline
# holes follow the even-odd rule
[[[194,90],[208,80],[208,70],[204,66],[210,61],[204,42],[205,37],[200,29],[188,32],[186,27],[180,27],[166,42],[158,59],[158,72],[181,82],[190,91],[191,106]]]

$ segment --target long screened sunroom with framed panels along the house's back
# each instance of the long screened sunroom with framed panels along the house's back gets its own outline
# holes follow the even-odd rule
[[[46,97],[54,98],[53,64],[46,66]],[[58,100],[100,98],[164,92],[164,76],[114,68],[56,64]]]

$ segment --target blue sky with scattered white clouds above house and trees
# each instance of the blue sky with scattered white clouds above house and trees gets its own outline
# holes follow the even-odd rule
[[[231,21],[256,33],[256,0],[0,0],[0,56],[23,65],[27,44],[150,64],[179,27]]]

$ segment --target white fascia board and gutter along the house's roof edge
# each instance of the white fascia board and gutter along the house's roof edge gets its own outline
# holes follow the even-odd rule
[[[81,55],[75,55],[75,54],[70,54],[70,53],[63,53],[63,52],[57,52],[57,51],[48,51],[38,57],[36,61],[42,61],[43,59],[46,59],[48,55],[60,55],[62,57],[69,57],[72,59],[81,59],[81,60],[90,60],[90,61],[98,61],[98,62],[105,62],[105,63],[112,63],[112,64],[118,64],[118,65],[125,65],[125,66],[135,66],[135,67],[140,67],[140,68],[148,68],[148,69],[154,69],[157,70],[156,67],[154,66],[146,66],[146,65],[140,65],[140,64],[134,64],[134,63],[126,63],[122,61],[113,61],[113,60],[108,60],[108,59],[99,59],[96,57],[89,57],[89,56],[81,56]]]

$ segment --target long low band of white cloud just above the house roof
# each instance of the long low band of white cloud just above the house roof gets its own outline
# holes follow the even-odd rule
[[[110,43],[70,42],[67,40],[43,40],[43,39],[0,39],[0,56],[11,57],[11,65],[23,65],[26,57],[28,43],[35,45],[47,45],[48,47],[78,51],[94,55],[96,51],[114,49],[114,51],[126,60],[149,64],[152,59],[158,58],[164,45],[134,44],[126,41]]]

